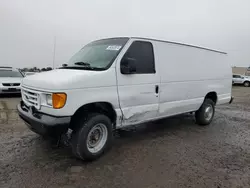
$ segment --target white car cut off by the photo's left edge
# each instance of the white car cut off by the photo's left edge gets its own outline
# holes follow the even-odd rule
[[[21,93],[23,74],[12,67],[0,67],[0,94]]]

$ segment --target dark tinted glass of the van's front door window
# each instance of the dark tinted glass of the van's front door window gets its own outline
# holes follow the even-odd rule
[[[155,61],[153,45],[150,42],[135,41],[131,44],[123,59],[135,61],[135,74],[154,74]]]

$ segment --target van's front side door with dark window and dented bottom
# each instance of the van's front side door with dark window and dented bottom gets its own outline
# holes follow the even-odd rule
[[[122,73],[121,63],[133,59],[134,71]],[[141,123],[158,116],[160,74],[155,63],[153,44],[130,40],[118,57],[117,85],[122,126]]]

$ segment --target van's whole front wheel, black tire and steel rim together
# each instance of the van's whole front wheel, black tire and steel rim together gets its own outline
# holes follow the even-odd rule
[[[90,114],[77,121],[73,131],[73,154],[82,160],[95,160],[110,148],[113,134],[110,119],[102,114]]]

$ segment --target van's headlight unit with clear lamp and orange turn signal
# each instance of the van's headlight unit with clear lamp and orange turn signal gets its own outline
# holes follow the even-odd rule
[[[60,109],[64,107],[67,95],[66,93],[52,93],[52,94],[46,94],[46,105],[52,106],[55,109]]]

